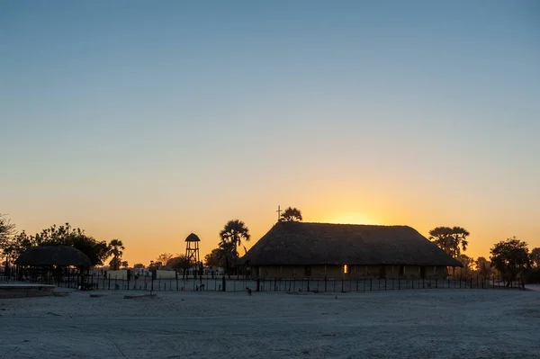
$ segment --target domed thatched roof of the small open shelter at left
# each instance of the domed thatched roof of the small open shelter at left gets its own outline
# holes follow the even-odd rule
[[[17,258],[15,265],[60,265],[91,266],[92,261],[75,247],[33,247]]]

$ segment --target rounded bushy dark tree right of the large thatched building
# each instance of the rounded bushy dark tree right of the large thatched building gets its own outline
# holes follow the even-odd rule
[[[516,276],[530,267],[527,243],[516,237],[501,240],[491,247],[491,266],[508,279],[507,287]]]

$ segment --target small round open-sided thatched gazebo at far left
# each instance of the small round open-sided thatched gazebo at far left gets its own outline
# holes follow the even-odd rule
[[[19,268],[19,278],[33,281],[51,282],[56,277],[58,283],[67,275],[68,280],[76,277],[82,280],[83,272],[92,266],[92,260],[75,247],[40,246],[23,252],[15,261]]]

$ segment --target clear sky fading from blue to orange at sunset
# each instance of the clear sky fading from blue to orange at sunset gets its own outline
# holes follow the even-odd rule
[[[304,221],[540,247],[536,1],[3,1],[0,212],[130,264]]]

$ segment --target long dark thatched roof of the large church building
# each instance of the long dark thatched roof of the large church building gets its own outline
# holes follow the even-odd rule
[[[276,223],[240,262],[249,265],[463,266],[407,226],[302,222]]]

